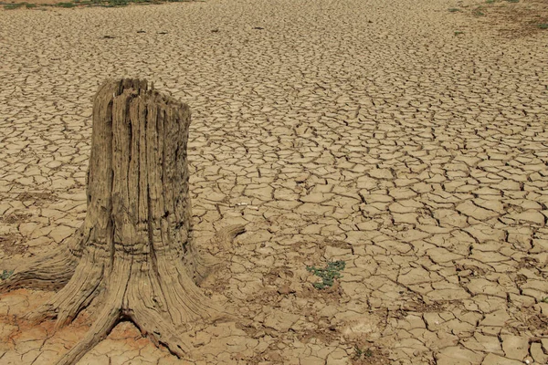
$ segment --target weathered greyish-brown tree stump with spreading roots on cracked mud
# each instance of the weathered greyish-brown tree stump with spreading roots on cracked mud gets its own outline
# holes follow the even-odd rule
[[[216,259],[193,243],[189,124],[188,106],[146,80],[107,81],[95,95],[86,218],[55,252],[17,267],[0,286],[58,290],[27,316],[57,318],[56,329],[92,305],[89,332],[58,364],[75,364],[121,319],[182,357],[189,345],[178,334],[221,316],[196,287]],[[237,225],[221,235],[241,232]]]

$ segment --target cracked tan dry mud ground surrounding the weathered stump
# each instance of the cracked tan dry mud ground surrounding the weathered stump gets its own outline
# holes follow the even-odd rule
[[[204,287],[238,320],[187,333],[187,360],[121,323],[79,365],[548,363],[548,30],[477,5],[0,10],[0,269],[79,226],[91,98],[148,78],[193,111],[199,243],[246,224]],[[0,295],[0,364],[89,328],[21,319],[48,296]]]

